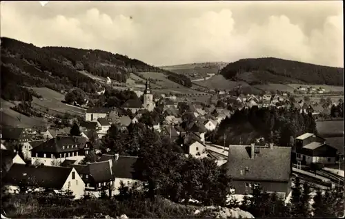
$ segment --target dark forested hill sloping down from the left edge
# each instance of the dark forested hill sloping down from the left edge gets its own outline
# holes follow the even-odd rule
[[[109,76],[119,82],[126,82],[131,72],[162,72],[171,81],[191,86],[186,76],[161,70],[121,54],[63,47],[39,48],[32,43],[1,37],[2,98],[21,99],[17,94],[27,93],[22,86],[49,87],[57,91],[78,86],[90,93],[99,90],[97,81],[81,71],[95,76]]]

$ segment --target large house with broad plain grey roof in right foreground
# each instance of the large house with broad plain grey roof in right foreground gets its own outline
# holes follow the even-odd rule
[[[230,145],[228,161],[222,166],[231,177],[233,194],[251,194],[261,186],[282,198],[290,194],[291,147]]]

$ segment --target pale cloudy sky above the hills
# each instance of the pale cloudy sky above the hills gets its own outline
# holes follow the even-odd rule
[[[277,57],[344,67],[342,1],[1,1],[1,36],[150,65]]]

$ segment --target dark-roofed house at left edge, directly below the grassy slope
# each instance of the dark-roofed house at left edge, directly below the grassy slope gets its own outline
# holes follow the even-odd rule
[[[1,143],[26,143],[30,140],[28,129],[21,127],[1,127]]]

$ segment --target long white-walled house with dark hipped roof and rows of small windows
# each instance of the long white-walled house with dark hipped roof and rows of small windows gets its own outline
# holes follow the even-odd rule
[[[31,149],[31,163],[55,165],[66,159],[81,160],[90,147],[86,138],[76,136],[57,136]]]

